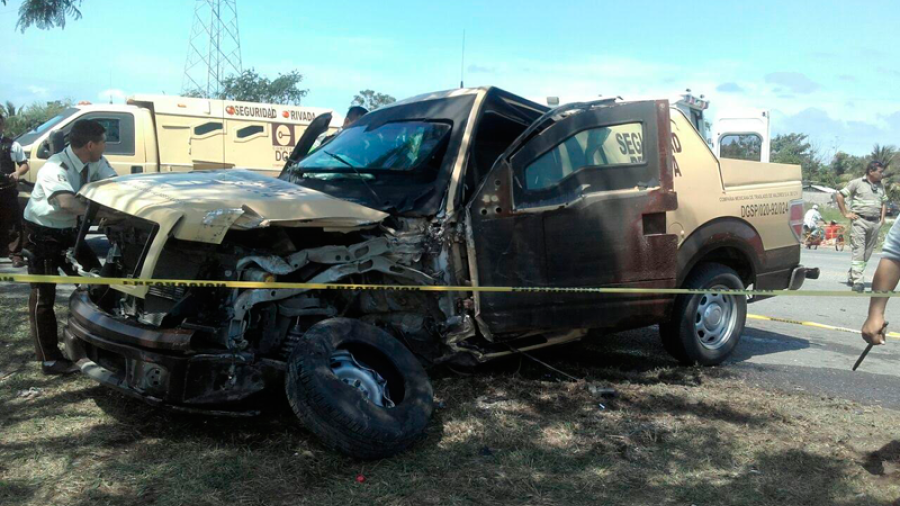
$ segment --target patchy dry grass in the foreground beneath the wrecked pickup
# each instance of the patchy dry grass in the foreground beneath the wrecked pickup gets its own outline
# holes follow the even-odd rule
[[[900,497],[900,416],[684,368],[632,335],[459,376],[399,457],[359,462],[263,418],[154,410],[87,379],[37,372],[24,301],[0,299],[0,504],[885,505]],[[60,317],[64,316],[61,311]],[[10,374],[12,373],[12,374]],[[615,399],[587,386],[612,386]],[[33,399],[17,393],[42,389]],[[600,406],[603,404],[603,407]],[[365,477],[363,483],[357,476]]]

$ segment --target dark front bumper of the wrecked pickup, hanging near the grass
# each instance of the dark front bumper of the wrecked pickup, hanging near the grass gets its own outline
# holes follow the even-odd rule
[[[284,381],[283,362],[198,352],[194,337],[123,322],[78,290],[69,299],[63,346],[85,376],[150,404],[188,411],[220,411]]]

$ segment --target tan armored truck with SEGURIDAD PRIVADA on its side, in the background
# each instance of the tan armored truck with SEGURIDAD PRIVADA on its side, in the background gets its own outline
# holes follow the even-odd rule
[[[106,159],[120,175],[241,167],[277,176],[320,107],[300,107],[169,95],[135,95],[125,105],[80,102],[19,136],[31,170],[20,190],[27,198],[35,178],[80,119],[106,128]],[[335,121],[334,132],[340,124]]]

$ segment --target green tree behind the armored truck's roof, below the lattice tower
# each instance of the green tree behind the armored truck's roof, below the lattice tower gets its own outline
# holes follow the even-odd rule
[[[303,74],[292,70],[279,74],[275,79],[261,76],[254,69],[245,70],[239,76],[231,76],[222,81],[222,91],[207,97],[202,90],[188,90],[185,96],[195,98],[218,98],[240,100],[242,102],[264,102],[282,105],[300,105],[309,90],[300,89]]]

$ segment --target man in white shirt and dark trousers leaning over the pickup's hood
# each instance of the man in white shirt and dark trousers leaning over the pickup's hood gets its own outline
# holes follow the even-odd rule
[[[79,120],[69,132],[69,147],[47,160],[37,175],[25,207],[29,274],[58,276],[66,251],[75,246],[78,217],[87,206],[77,196],[82,186],[117,174],[103,158],[106,131],[96,121]],[[68,374],[78,368],[59,350],[56,285],[33,283],[28,318],[38,361],[44,374]]]

